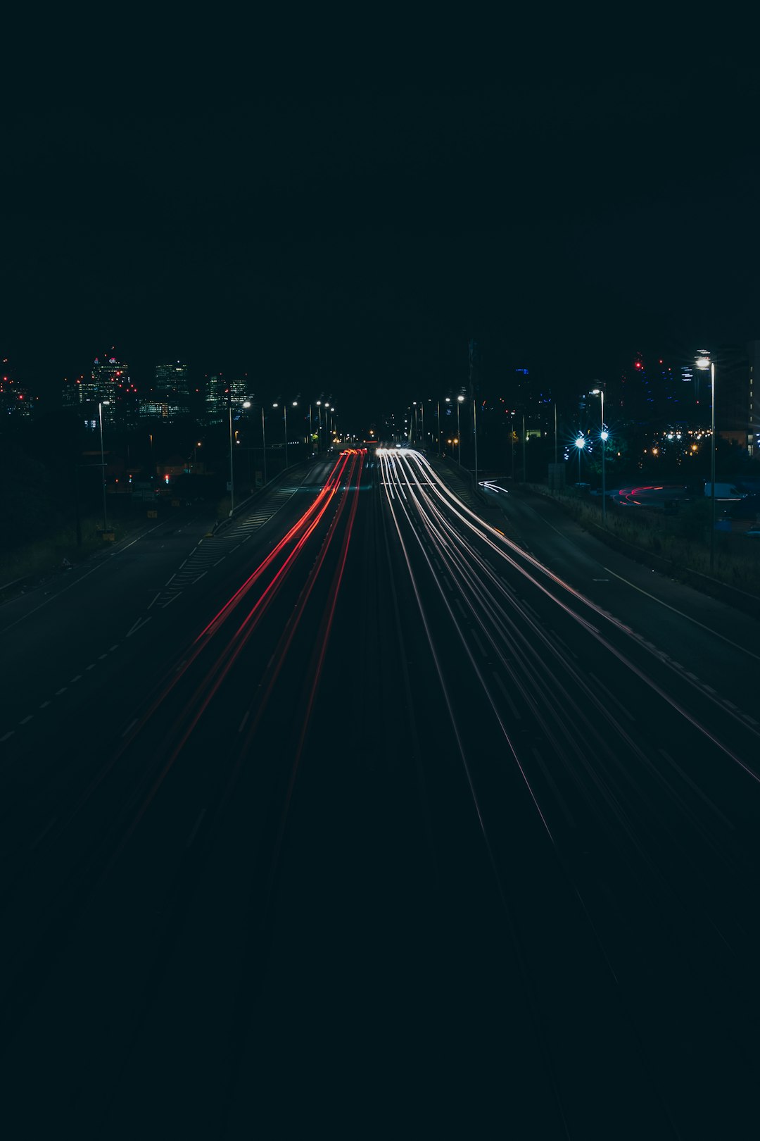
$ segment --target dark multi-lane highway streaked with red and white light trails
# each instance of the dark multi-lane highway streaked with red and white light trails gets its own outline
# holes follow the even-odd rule
[[[3,608],[18,1135],[741,1135],[757,624],[441,470]]]

